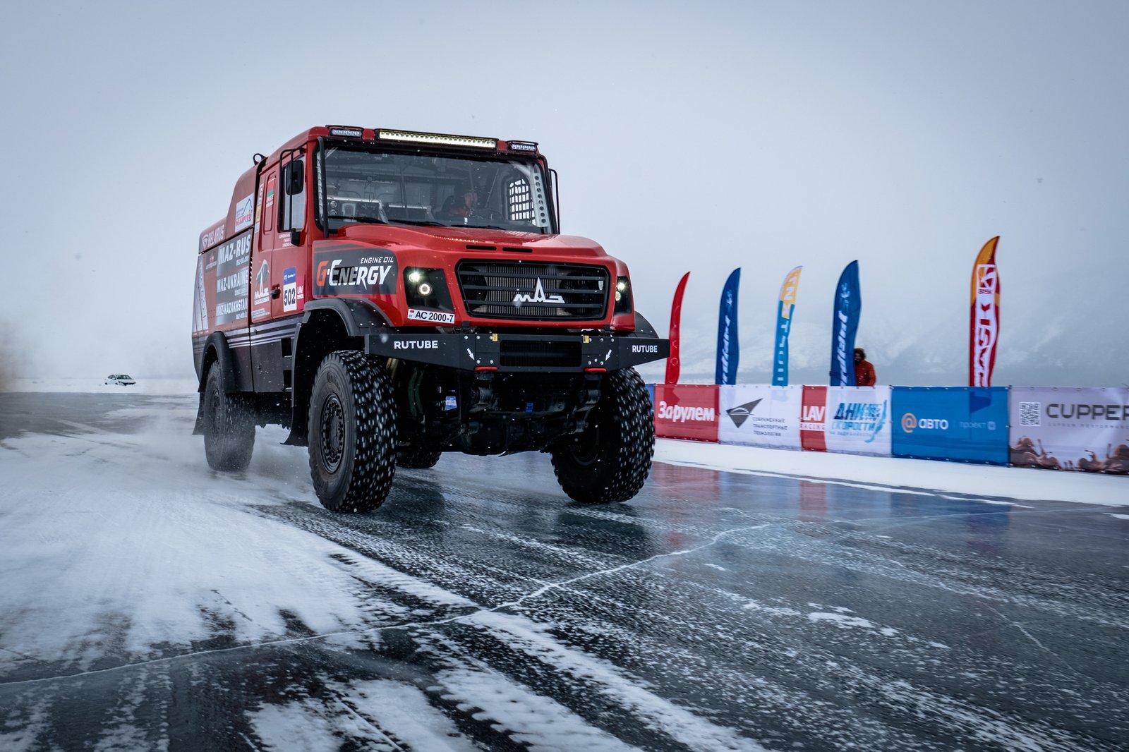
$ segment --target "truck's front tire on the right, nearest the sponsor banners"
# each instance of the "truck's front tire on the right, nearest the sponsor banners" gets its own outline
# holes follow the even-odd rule
[[[627,501],[642,488],[655,453],[655,412],[633,368],[604,378],[590,425],[552,451],[557,481],[585,504]]]

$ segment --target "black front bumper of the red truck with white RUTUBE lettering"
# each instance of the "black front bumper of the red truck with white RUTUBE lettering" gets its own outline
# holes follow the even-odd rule
[[[370,333],[365,352],[462,370],[583,373],[662,360],[671,355],[671,341],[611,334]]]

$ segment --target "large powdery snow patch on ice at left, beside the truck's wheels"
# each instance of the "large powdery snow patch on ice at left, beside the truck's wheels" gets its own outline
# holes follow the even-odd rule
[[[183,418],[149,417],[135,435],[3,441],[0,674],[36,661],[81,673],[215,638],[277,640],[295,636],[295,621],[300,635],[326,635],[409,615],[374,586],[474,605],[264,516],[256,507],[287,497],[316,505],[303,449],[260,440],[245,473],[217,474]]]

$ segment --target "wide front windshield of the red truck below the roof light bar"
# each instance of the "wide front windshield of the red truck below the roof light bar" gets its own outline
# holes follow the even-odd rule
[[[356,222],[554,231],[545,177],[532,159],[349,145],[327,146],[324,160],[318,152],[318,213],[331,231]]]

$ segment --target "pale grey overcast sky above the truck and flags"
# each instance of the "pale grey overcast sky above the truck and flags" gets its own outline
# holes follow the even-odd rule
[[[1000,235],[996,384],[1129,383],[1129,3],[19,3],[0,28],[2,355],[24,375],[190,376],[196,238],[256,151],[326,123],[541,143],[563,229],[631,268],[712,376],[742,268],[765,383],[826,383],[859,260],[879,383],[964,384]],[[662,369],[647,371],[654,376]]]

